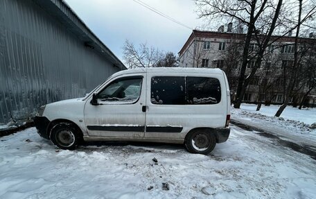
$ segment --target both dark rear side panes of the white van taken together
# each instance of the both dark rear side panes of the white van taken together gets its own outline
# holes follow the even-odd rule
[[[151,102],[164,105],[220,103],[220,81],[216,78],[155,76],[151,80]]]

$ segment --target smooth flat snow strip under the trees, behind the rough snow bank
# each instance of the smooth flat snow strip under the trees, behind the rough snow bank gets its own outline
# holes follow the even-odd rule
[[[256,107],[257,105],[255,104],[242,103],[240,109],[246,110],[247,112],[264,114],[266,116],[274,116],[277,110],[279,110],[280,105],[262,105],[258,112],[256,111]],[[283,117],[283,119],[300,121],[310,125],[316,123],[316,108],[304,108],[299,110],[297,107],[288,105],[282,112],[281,117]]]

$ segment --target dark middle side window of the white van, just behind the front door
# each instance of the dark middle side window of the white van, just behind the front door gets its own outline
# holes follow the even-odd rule
[[[155,76],[151,80],[150,101],[153,104],[184,105],[185,78]]]

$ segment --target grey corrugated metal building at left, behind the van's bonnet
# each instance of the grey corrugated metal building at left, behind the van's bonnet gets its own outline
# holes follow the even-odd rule
[[[62,0],[0,0],[0,123],[126,69]]]

